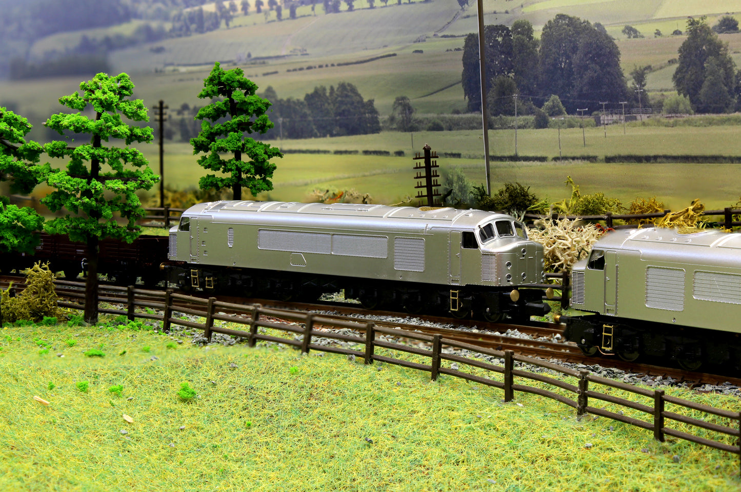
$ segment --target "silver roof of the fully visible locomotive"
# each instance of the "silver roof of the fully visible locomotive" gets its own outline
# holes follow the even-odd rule
[[[297,215],[311,215],[319,217],[346,217],[350,220],[357,218],[375,219],[411,219],[413,222],[427,222],[432,227],[473,228],[482,222],[494,219],[511,219],[502,213],[486,212],[483,210],[456,210],[453,207],[391,207],[389,205],[366,205],[353,203],[298,203],[298,202],[253,202],[253,201],[222,201],[207,202],[193,205],[183,215],[206,215],[216,217],[238,214],[241,217],[254,213],[280,213],[288,218]],[[263,216],[265,217],[265,216]],[[277,219],[277,217],[276,217]],[[342,220],[342,219],[340,219]]]

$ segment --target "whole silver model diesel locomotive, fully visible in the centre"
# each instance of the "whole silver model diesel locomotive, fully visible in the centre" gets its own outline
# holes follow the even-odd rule
[[[444,307],[486,319],[542,316],[542,245],[511,216],[451,207],[209,202],[170,229],[170,282],[223,293],[365,307]]]

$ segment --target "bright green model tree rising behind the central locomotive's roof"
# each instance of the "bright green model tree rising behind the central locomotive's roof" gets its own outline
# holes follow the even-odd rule
[[[277,147],[258,142],[245,133],[263,134],[273,127],[266,111],[268,99],[257,96],[257,85],[246,79],[241,68],[222,70],[219,62],[203,81],[201,99],[211,99],[202,107],[196,119],[202,120],[201,133],[190,139],[193,153],[205,153],[198,163],[207,170],[219,171],[225,177],[207,174],[199,180],[202,190],[231,187],[235,200],[242,199],[242,187],[253,195],[273,189],[270,178],[276,164],[273,157],[282,157]],[[230,154],[222,159],[221,154]],[[248,160],[243,160],[244,158]]]

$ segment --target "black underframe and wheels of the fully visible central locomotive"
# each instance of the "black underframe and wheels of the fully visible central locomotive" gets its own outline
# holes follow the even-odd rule
[[[350,276],[190,265],[186,262],[170,262],[170,265],[165,265],[165,270],[168,282],[184,290],[244,296],[265,294],[274,299],[307,302],[316,301],[324,293],[345,290],[347,299],[359,299],[368,309],[403,307],[408,313],[447,312],[458,318],[473,315],[492,322],[505,315],[527,321],[530,316],[544,316],[551,310],[542,301],[545,292],[539,288],[520,288],[516,296],[512,296],[512,287],[399,283]]]

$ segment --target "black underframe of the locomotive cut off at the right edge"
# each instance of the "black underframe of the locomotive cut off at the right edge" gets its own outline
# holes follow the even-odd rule
[[[639,356],[676,361],[697,370],[702,365],[741,368],[741,335],[704,328],[645,322],[599,314],[562,316],[565,339],[588,355],[617,355],[624,360]]]

